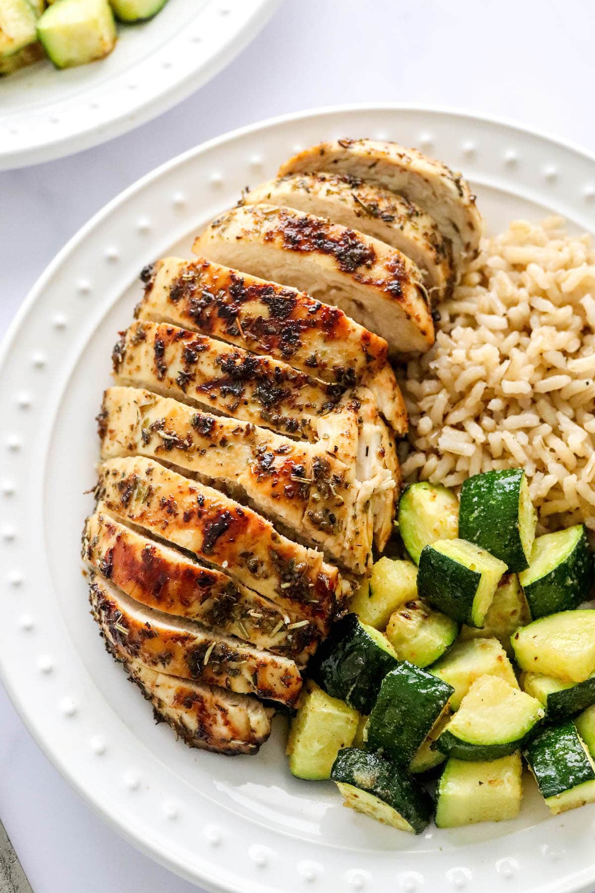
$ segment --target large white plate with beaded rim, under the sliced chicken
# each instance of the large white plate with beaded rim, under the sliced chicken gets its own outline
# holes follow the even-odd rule
[[[407,108],[325,110],[236,132],[141,180],[81,230],[37,283],[0,360],[0,661],[37,742],[106,821],[212,890],[562,893],[595,884],[592,806],[558,818],[530,784],[515,822],[417,838],[343,809],[330,782],[295,780],[283,722],[255,757],[192,751],[103,650],[79,534],[92,497],[93,417],[138,271],[189,254],[199,227],[298,146],[387,137],[462,168],[492,230],[555,211],[593,223],[595,164],[493,121]]]

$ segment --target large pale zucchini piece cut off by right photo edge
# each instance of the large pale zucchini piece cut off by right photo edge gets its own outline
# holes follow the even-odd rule
[[[595,611],[561,611],[516,630],[510,639],[516,663],[566,682],[595,672]]]

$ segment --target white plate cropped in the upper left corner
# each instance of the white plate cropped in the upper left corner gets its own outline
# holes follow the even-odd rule
[[[280,0],[169,0],[120,25],[106,59],[57,71],[47,60],[0,78],[0,171],[117,137],[194,93],[244,49]]]

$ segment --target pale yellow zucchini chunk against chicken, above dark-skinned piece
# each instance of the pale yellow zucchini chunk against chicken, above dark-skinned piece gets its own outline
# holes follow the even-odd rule
[[[384,630],[393,611],[417,598],[417,567],[410,561],[380,558],[374,563],[368,581],[351,599],[350,610],[359,620]]]

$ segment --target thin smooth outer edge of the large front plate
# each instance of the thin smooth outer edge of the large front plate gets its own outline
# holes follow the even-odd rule
[[[120,192],[119,195],[114,196],[110,202],[105,204],[103,208],[101,208],[98,212],[96,212],[90,219],[85,223],[77,233],[73,237],[71,237],[68,242],[62,247],[62,249],[55,255],[54,260],[48,264],[45,268],[45,271],[37,278],[34,286],[29,290],[28,296],[24,299],[21,307],[18,312],[15,314],[11,324],[9,325],[4,338],[2,340],[2,344],[0,345],[0,366],[4,364],[6,354],[11,349],[15,336],[18,334],[18,330],[21,327],[22,321],[25,319],[27,314],[30,312],[31,308],[35,305],[37,301],[37,297],[41,294],[43,289],[45,288],[46,282],[51,280],[54,276],[55,271],[57,271],[64,260],[70,255],[70,253],[77,247],[79,244],[87,238],[89,232],[95,229],[105,218],[109,217],[119,206],[120,204],[124,204],[128,201],[130,196],[134,196],[136,193],[141,192],[145,187],[150,185],[153,181],[160,179],[161,176],[176,168],[178,165],[186,163],[188,160],[192,159],[194,155],[200,155],[202,153],[206,153],[217,146],[235,140],[237,138],[244,138],[246,136],[250,136],[252,133],[257,131],[264,131],[271,127],[275,127],[276,125],[282,125],[286,123],[291,123],[292,121],[302,121],[304,119],[312,119],[316,117],[321,117],[328,114],[335,113],[359,113],[359,112],[368,112],[368,111],[377,111],[384,113],[391,112],[405,112],[405,113],[428,113],[432,115],[448,115],[454,116],[461,121],[469,121],[469,122],[487,122],[491,125],[495,125],[496,127],[503,127],[506,129],[512,129],[516,131],[517,134],[525,134],[533,137],[541,138],[546,140],[553,146],[559,146],[564,150],[569,150],[575,154],[582,155],[585,160],[590,162],[595,166],[595,154],[590,153],[589,151],[583,149],[581,146],[574,146],[570,141],[564,141],[559,138],[551,137],[548,133],[540,131],[539,129],[531,129],[518,125],[514,121],[507,121],[505,119],[501,119],[500,117],[490,116],[485,114],[476,114],[473,112],[463,111],[460,109],[450,108],[448,106],[434,106],[431,104],[409,104],[409,103],[359,103],[359,104],[338,104],[338,105],[330,105],[324,107],[318,107],[305,111],[298,111],[284,115],[278,115],[264,121],[254,122],[250,125],[246,125],[242,128],[234,129],[228,131],[225,134],[220,135],[217,138],[212,138],[204,143],[201,143],[197,146],[194,146],[184,153],[176,155],[174,158],[170,159],[168,162],[162,163],[158,167],[154,168],[153,171],[149,171],[142,178],[137,179],[130,186],[125,188]],[[213,891],[227,891],[227,893],[236,893],[239,889],[236,886],[227,886],[226,883],[221,883],[214,875],[205,875],[201,879],[197,879],[195,872],[190,872],[186,870],[186,866],[182,864],[181,860],[176,861],[173,855],[165,854],[158,849],[158,847],[153,846],[153,841],[145,842],[139,838],[139,831],[128,831],[126,827],[124,827],[123,823],[119,821],[114,814],[107,811],[107,809],[103,808],[103,805],[99,805],[95,803],[95,800],[92,798],[92,795],[87,792],[87,789],[84,787],[82,783],[79,783],[79,778],[75,774],[75,772],[70,771],[70,767],[65,764],[63,761],[60,762],[59,755],[54,755],[52,749],[50,752],[46,749],[45,739],[41,734],[41,730],[37,733],[37,726],[34,723],[29,724],[28,722],[28,708],[26,705],[22,704],[19,695],[17,693],[17,685],[12,685],[12,680],[10,678],[10,674],[6,671],[4,667],[4,661],[0,660],[0,680],[4,684],[4,689],[7,691],[8,696],[12,701],[12,705],[14,706],[17,714],[19,715],[21,722],[25,725],[31,737],[36,741],[37,745],[40,747],[45,757],[50,761],[51,764],[57,769],[58,772],[62,775],[62,778],[67,780],[70,786],[77,791],[79,796],[81,796],[87,805],[95,812],[95,814],[99,814],[103,821],[107,822],[108,825],[112,827],[112,829],[116,830],[120,836],[124,837],[128,840],[128,842],[132,843],[135,847],[139,848],[146,855],[149,855],[158,863],[167,867],[170,871],[177,873],[187,880],[191,880],[194,883],[200,882],[205,889],[211,889]],[[209,863],[209,868],[211,872],[214,872],[217,869],[217,864],[214,860],[211,860]],[[560,886],[557,882],[557,886],[555,889],[557,891],[568,891],[568,893],[587,893],[589,889],[591,889],[591,885],[593,880],[595,880],[595,862],[592,866],[592,870],[589,873],[589,877],[586,877],[586,874],[583,872],[583,879],[575,878],[573,882],[572,877],[568,874],[569,880],[566,886]],[[459,886],[459,885],[456,885]],[[264,885],[263,888],[264,889]],[[552,888],[553,889],[553,888]]]

